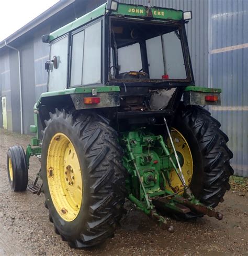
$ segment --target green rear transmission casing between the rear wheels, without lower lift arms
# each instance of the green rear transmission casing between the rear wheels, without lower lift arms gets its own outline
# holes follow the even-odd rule
[[[163,140],[161,136],[156,136],[146,129],[121,134],[120,142],[124,148],[123,166],[129,173],[127,186],[130,194],[144,204],[146,195],[152,198],[166,194],[166,180],[162,173],[167,177],[167,173],[170,173],[173,168],[169,156],[173,158],[174,163],[176,162],[174,154],[171,154],[165,143],[162,147],[161,139]],[[180,162],[183,162],[182,155],[180,155]],[[142,184],[137,172],[141,176]]]

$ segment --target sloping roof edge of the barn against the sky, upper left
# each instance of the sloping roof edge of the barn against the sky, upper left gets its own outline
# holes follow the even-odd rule
[[[36,18],[32,19],[28,24],[18,29],[15,33],[5,38],[3,41],[0,41],[0,50],[5,47],[5,41],[7,44],[10,42],[15,41],[20,36],[26,34],[31,29],[37,27],[44,21],[46,21],[48,18],[52,17],[53,15],[60,12],[60,10],[64,9],[66,6],[69,6],[70,4],[74,3],[75,0],[60,0],[58,3],[51,6],[49,9],[45,10],[42,14],[37,16]]]

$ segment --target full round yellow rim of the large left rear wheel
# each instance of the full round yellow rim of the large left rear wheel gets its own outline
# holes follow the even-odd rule
[[[80,163],[70,139],[52,137],[47,157],[47,179],[53,205],[65,221],[73,221],[81,208],[83,183]]]

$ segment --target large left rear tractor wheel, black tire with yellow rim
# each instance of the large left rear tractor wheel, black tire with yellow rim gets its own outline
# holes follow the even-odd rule
[[[71,247],[114,235],[126,197],[121,159],[117,133],[102,116],[50,113],[42,141],[45,205],[55,232]]]

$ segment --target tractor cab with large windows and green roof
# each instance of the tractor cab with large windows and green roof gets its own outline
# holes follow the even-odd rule
[[[108,1],[43,36],[51,46],[48,90],[194,84],[189,19],[191,12]]]

